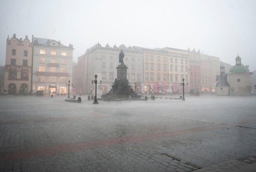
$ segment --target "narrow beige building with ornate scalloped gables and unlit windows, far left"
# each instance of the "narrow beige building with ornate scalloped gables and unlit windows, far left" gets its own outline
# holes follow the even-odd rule
[[[4,94],[27,94],[31,90],[32,43],[16,38],[6,40]]]

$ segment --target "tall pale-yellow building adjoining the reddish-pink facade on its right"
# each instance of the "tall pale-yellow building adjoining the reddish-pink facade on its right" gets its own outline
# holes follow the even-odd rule
[[[165,47],[162,48],[168,51],[168,75],[169,88],[173,93],[182,93],[182,79],[185,83],[189,83],[189,54],[187,50]],[[184,92],[189,92],[189,87],[185,84]]]

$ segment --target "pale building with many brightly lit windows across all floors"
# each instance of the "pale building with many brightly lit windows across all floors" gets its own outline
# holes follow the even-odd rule
[[[66,84],[72,83],[73,45],[65,46],[60,41],[34,38],[32,89],[44,94],[67,94]],[[72,87],[70,88],[72,90]]]

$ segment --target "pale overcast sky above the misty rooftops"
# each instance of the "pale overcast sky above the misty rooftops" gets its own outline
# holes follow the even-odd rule
[[[0,0],[0,65],[6,39],[74,45],[73,61],[96,43],[195,49],[256,70],[256,0]]]

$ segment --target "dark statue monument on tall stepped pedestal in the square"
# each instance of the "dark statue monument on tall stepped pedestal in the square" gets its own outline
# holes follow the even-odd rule
[[[124,64],[124,52],[121,49],[119,53],[119,63],[117,69],[117,78],[114,83],[112,83],[112,89],[104,95],[102,95],[102,100],[111,101],[111,100],[128,100],[129,96],[133,99],[140,99],[141,95],[138,95],[133,91],[132,86],[130,85],[127,79],[127,69],[128,67]]]

